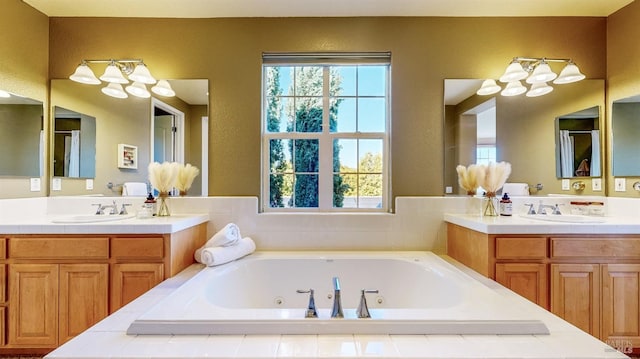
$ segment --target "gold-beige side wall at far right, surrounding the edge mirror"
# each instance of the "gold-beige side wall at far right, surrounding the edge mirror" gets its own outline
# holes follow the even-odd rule
[[[640,94],[640,2],[634,1],[607,21],[607,119],[611,119],[613,101]],[[611,132],[611,121],[607,121]],[[607,142],[607,174],[611,176],[611,143]],[[640,178],[627,178],[627,191],[616,192],[614,181],[608,181],[608,195],[615,197],[640,197],[631,185]]]

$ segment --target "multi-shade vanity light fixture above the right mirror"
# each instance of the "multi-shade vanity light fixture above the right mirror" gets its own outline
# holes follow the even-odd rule
[[[553,72],[549,63],[566,63],[560,75]],[[476,92],[478,95],[492,95],[500,92],[503,96],[517,96],[527,93],[528,97],[542,96],[553,91],[548,82],[568,84],[584,79],[578,66],[571,59],[554,59],[546,57],[514,57],[500,82],[506,83],[504,90],[493,79],[487,79]],[[521,81],[525,80],[531,87],[527,89]]]

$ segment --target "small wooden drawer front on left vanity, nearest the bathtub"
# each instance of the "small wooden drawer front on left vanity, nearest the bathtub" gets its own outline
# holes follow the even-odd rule
[[[115,237],[111,239],[111,257],[116,260],[164,258],[162,237]]]

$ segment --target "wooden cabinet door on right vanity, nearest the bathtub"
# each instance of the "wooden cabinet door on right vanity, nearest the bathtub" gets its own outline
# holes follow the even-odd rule
[[[548,308],[547,266],[542,263],[496,263],[496,281]]]

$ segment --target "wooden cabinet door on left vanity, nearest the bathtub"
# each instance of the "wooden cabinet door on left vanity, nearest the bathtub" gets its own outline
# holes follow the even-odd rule
[[[118,263],[111,270],[111,312],[155,287],[163,279],[162,263]]]

